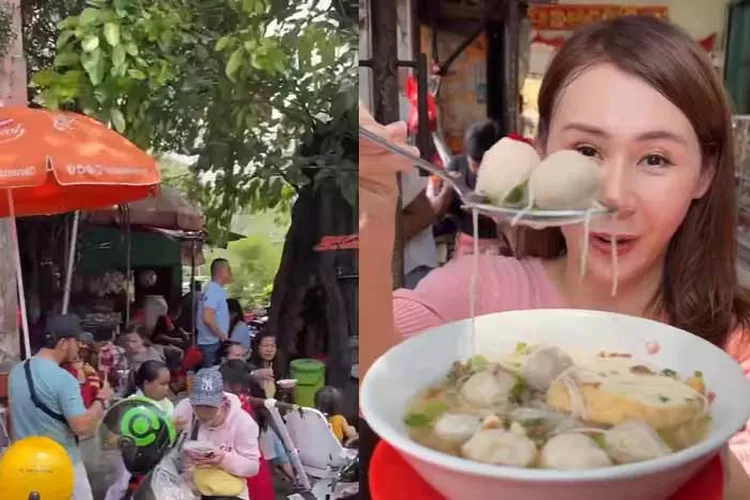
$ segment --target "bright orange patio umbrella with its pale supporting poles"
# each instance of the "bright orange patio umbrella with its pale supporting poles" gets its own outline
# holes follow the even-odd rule
[[[0,217],[50,215],[105,208],[143,199],[158,188],[159,169],[151,156],[98,121],[76,113],[0,107]],[[78,214],[66,274],[69,282],[75,256]],[[18,241],[14,242],[18,254]],[[16,272],[29,355],[26,305],[20,260]]]

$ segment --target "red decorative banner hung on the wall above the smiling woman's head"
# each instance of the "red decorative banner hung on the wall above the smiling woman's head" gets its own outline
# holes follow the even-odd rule
[[[622,16],[655,16],[668,19],[665,5],[532,5],[529,19],[534,29],[572,31],[584,24]]]

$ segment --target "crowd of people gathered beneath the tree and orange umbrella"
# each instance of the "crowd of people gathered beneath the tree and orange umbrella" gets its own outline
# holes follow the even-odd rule
[[[272,500],[274,471],[291,486],[299,480],[264,405],[277,397],[276,339],[245,323],[239,301],[225,291],[231,277],[229,262],[212,262],[194,343],[168,317],[149,311],[119,338],[99,343],[75,315],[47,318],[41,348],[10,374],[12,428],[15,439],[48,436],[65,447],[74,464],[74,500],[94,498],[79,442],[118,399],[151,402],[189,439],[214,447],[209,455],[185,451],[188,480],[203,498]],[[343,444],[356,431],[341,415],[342,399],[334,387],[316,395]],[[142,479],[118,460],[106,500],[130,498]]]

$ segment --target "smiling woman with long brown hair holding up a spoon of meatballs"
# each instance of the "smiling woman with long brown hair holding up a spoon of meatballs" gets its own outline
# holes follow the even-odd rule
[[[402,128],[360,123],[403,142]],[[750,303],[736,275],[731,107],[705,52],[682,30],[623,17],[576,32],[552,60],[539,95],[542,157],[577,150],[604,169],[614,218],[521,231],[519,259],[483,256],[477,313],[549,307],[615,311],[690,331],[750,366]],[[361,358],[365,367],[403,336],[469,316],[471,258],[391,292],[398,191],[407,162],[360,144]],[[617,239],[619,288],[610,240]],[[588,248],[585,248],[588,247]],[[588,250],[585,279],[581,254]],[[745,498],[750,446],[733,441],[727,498]]]

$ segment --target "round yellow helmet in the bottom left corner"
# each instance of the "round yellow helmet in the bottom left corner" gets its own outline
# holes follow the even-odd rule
[[[48,437],[21,439],[0,456],[3,500],[70,500],[74,480],[68,452]]]

